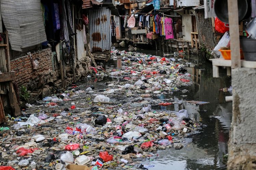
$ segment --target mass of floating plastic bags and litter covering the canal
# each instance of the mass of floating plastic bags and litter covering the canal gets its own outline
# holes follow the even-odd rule
[[[88,77],[109,76],[115,81],[98,89],[72,85],[27,104],[20,117],[9,115],[0,133],[0,169],[145,169],[141,160],[157,150],[184,147],[184,136],[202,125],[186,110],[152,107],[174,104],[154,97],[192,84],[185,65],[174,58],[112,53],[122,58],[122,69],[93,68]]]

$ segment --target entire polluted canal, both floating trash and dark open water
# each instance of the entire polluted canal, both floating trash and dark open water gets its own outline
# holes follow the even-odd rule
[[[230,78],[212,78],[211,64],[198,56],[112,56],[83,81],[9,118],[2,166],[225,169]]]

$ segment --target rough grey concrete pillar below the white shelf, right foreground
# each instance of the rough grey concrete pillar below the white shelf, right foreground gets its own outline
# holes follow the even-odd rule
[[[228,169],[256,168],[256,69],[232,69],[233,117]]]

